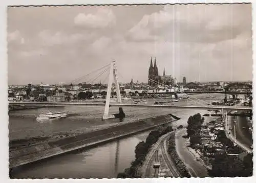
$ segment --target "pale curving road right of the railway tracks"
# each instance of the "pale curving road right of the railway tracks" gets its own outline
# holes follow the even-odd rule
[[[187,141],[188,139],[183,138],[183,135],[186,135],[185,128],[176,131],[176,150],[179,157],[185,163],[192,177],[208,177],[207,169],[188,150],[189,142]]]

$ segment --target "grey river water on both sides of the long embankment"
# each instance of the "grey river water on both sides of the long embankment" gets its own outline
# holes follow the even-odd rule
[[[193,95],[197,99],[205,101],[203,104],[224,99],[223,94],[215,94],[216,98],[205,99],[207,94]],[[211,95],[212,96],[212,95]],[[172,99],[167,99],[172,100]],[[162,99],[159,99],[162,101]],[[194,99],[180,100],[174,105],[202,105],[202,101]],[[130,101],[125,101],[129,103]],[[148,99],[148,104],[155,100]],[[169,104],[168,104],[169,105]],[[70,116],[61,120],[36,122],[35,118],[46,111],[66,110]],[[50,136],[58,133],[81,132],[119,123],[118,119],[101,120],[103,107],[55,107],[17,110],[9,112],[9,139],[26,139],[34,136]],[[117,113],[118,108],[110,108],[110,113]],[[123,108],[126,117],[123,122],[165,115],[172,113],[181,120],[170,123],[174,128],[186,126],[187,119],[195,113],[206,113],[205,110],[192,109],[149,109],[149,108]],[[213,117],[206,117],[213,118]],[[122,122],[122,123],[123,123]],[[135,159],[135,147],[140,141],[145,141],[149,131],[141,132],[127,138],[103,144],[91,149],[64,154],[45,159],[40,163],[34,163],[26,167],[19,167],[10,173],[11,178],[115,178],[118,172],[130,167]]]

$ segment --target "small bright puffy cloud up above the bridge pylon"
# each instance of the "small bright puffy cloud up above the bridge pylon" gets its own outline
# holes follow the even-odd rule
[[[79,13],[74,18],[74,22],[78,26],[88,28],[106,28],[115,25],[116,17],[111,9],[99,7],[95,14]]]

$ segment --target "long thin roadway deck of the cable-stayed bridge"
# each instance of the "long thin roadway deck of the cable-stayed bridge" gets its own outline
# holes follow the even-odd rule
[[[10,106],[105,106],[100,103],[86,103],[86,102],[9,102]],[[111,103],[109,106],[116,107],[138,107],[138,108],[176,108],[176,109],[206,109],[206,110],[244,110],[251,111],[252,107],[244,106],[186,106],[186,105],[141,105],[141,104],[120,104]]]

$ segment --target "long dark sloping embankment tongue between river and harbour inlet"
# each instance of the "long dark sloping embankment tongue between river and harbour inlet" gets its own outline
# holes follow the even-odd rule
[[[63,134],[34,138],[33,140],[13,141],[9,143],[9,167],[14,168],[73,150],[89,148],[173,121],[175,119],[172,115],[162,115],[130,123],[113,124],[111,127],[103,126],[103,129],[80,134]]]

